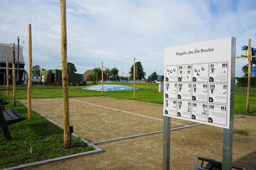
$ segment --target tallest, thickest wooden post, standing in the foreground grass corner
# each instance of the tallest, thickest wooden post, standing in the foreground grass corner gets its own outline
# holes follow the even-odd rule
[[[70,148],[69,131],[69,104],[68,104],[68,72],[67,72],[67,18],[66,0],[60,0],[61,18],[61,67],[62,67],[62,87],[64,106],[64,148]]]

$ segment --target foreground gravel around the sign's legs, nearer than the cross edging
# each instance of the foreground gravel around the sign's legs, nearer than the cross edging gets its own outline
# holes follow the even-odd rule
[[[235,166],[244,167],[255,163],[255,154],[251,157],[247,156],[256,151],[255,123],[256,118],[248,117],[236,118],[234,121],[235,128],[250,129],[250,136],[234,134],[233,162]],[[163,168],[163,133],[102,143],[97,146],[105,152],[52,162],[33,167],[33,169]],[[171,132],[171,169],[193,169],[196,156],[221,161],[221,128],[200,125]]]

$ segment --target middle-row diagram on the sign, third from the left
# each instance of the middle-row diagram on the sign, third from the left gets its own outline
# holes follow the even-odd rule
[[[192,84],[192,101],[208,101],[208,83]]]

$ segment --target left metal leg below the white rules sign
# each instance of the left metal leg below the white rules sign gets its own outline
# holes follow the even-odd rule
[[[170,169],[170,139],[171,139],[171,118],[164,116],[163,134],[163,170]]]

